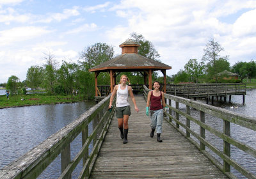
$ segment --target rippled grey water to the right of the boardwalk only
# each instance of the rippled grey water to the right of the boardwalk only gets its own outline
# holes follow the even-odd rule
[[[198,100],[200,102],[206,103],[205,100]],[[256,117],[256,89],[248,89],[247,94],[245,96],[245,104],[243,105],[243,97],[242,96],[232,96],[231,102],[223,102],[219,101],[217,102],[214,100],[214,106],[221,107],[222,109],[227,109],[228,111],[233,111],[239,114],[244,114],[246,116],[253,116]],[[209,102],[211,104],[211,102]],[[175,106],[174,102],[172,102],[172,106]],[[181,111],[184,111],[186,113],[186,105],[179,105],[179,109]],[[190,109],[191,116],[199,120],[199,112],[195,109]],[[186,118],[183,118],[180,116],[180,121],[182,123],[186,123]],[[223,132],[223,120],[220,118],[214,118],[208,114],[205,114],[205,123],[207,125],[210,125],[212,128],[215,128],[216,130],[219,130],[220,132]],[[193,121],[191,121],[191,128],[197,133],[200,134],[200,128],[198,125],[196,125]],[[184,132],[185,130],[180,127]],[[240,127],[234,123],[231,123],[230,125],[230,131],[231,136],[236,139],[237,141],[240,141],[244,144],[247,144],[248,146],[251,146],[252,148],[256,149],[256,132],[253,130],[250,130],[248,128]],[[195,141],[199,143],[199,141],[191,136]],[[205,130],[205,138],[207,141],[210,141],[214,146],[216,146],[220,151],[223,151],[223,141],[221,139],[216,138],[211,132],[208,132]],[[223,160],[218,157],[215,153],[211,152],[209,148],[206,148],[207,152],[211,153],[216,159],[223,164]],[[241,164],[241,166],[245,167],[248,171],[256,175],[256,159],[254,157],[251,157],[247,153],[241,152],[238,150],[235,146],[231,145],[231,158],[236,160],[238,164]],[[234,173],[237,178],[245,178],[243,175],[238,173],[236,169],[231,167],[232,173]]]

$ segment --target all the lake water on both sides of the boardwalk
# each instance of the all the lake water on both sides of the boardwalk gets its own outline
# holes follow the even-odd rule
[[[4,95],[5,90],[3,91]],[[242,96],[232,96],[230,103],[214,101],[214,105],[236,113],[256,117],[255,101],[256,89],[248,89],[244,105]],[[202,100],[202,102],[205,103],[204,100]],[[0,109],[0,168],[10,164],[10,162],[13,162],[36,145],[42,143],[42,141],[60,130],[60,128],[65,127],[68,123],[76,120],[79,115],[83,114],[93,105],[95,105],[94,101],[88,101],[75,104],[36,105],[30,107]],[[236,106],[236,108],[233,107],[231,109],[230,107],[232,106]],[[182,105],[180,105],[180,108],[182,109]],[[184,107],[184,110],[185,109],[186,107]],[[191,109],[191,115],[198,116],[198,113]],[[180,120],[182,120],[182,118]],[[223,123],[220,119],[207,118],[206,115],[205,123],[219,128],[220,131],[222,131]],[[191,128],[199,130],[193,123],[191,123]],[[92,132],[92,127],[89,130],[89,133],[90,132]],[[256,148],[256,132],[243,127],[238,127],[237,125],[231,125],[231,135],[232,137],[236,137],[237,140],[243,141],[253,148]],[[223,150],[223,141],[215,140],[216,137],[209,134],[209,132],[206,132],[205,136],[208,140],[212,141],[214,145],[218,146],[221,151]],[[77,151],[71,151],[73,158],[75,153],[81,148],[81,135],[71,143],[71,148],[72,146],[77,146]],[[90,148],[91,147],[92,146],[90,146]],[[232,147],[231,150],[232,158],[239,163],[242,162],[246,169],[256,174],[256,160],[254,158],[248,156],[246,153],[238,152],[236,148]],[[81,167],[82,164],[80,162],[77,169],[72,173],[74,178],[77,178],[79,175]],[[232,169],[232,172],[236,173],[234,169]],[[61,162],[59,156],[38,178],[58,178],[60,174]],[[238,173],[236,173],[236,175],[238,178],[243,178],[243,176]]]

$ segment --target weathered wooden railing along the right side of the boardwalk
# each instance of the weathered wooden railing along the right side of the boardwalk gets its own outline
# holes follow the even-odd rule
[[[147,99],[148,91],[150,91],[150,89],[144,86],[145,99]],[[248,153],[248,155],[251,157],[256,158],[256,149],[244,144],[243,141],[237,141],[237,139],[231,137],[230,130],[230,123],[234,123],[241,127],[245,127],[246,130],[256,131],[256,118],[233,113],[232,111],[203,104],[194,100],[189,100],[187,98],[176,97],[168,94],[164,94],[164,97],[166,98],[166,104],[169,108],[168,112],[164,112],[164,114],[166,114],[165,119],[189,141],[191,141],[191,143],[195,144],[196,148],[204,153],[204,155],[206,155],[218,168],[220,168],[225,175],[227,175],[229,178],[236,178],[236,176],[230,173],[230,166],[232,166],[246,178],[256,178],[256,175],[245,169],[241,164],[238,164],[230,157],[232,152],[230,145],[233,145],[237,148],[237,150],[242,150],[243,152]],[[175,107],[172,106],[172,102],[175,104]],[[186,112],[179,109],[180,104],[186,105]],[[190,114],[190,110],[192,108],[193,110],[195,109],[198,111],[199,119],[196,119],[195,116]],[[214,116],[214,118],[220,118],[220,120],[223,121],[223,132],[213,128],[210,125],[207,125],[207,118],[205,118],[205,114],[207,114],[207,116]],[[180,120],[181,118],[184,120]],[[190,127],[191,121],[198,126],[197,129],[200,134]],[[221,121],[216,121],[216,123],[218,122]],[[182,127],[183,130],[180,127]],[[211,141],[207,141],[205,138],[205,130],[213,134],[216,139],[218,138],[223,141],[223,151],[214,146]],[[193,137],[191,137],[191,135]],[[198,139],[198,142],[196,142],[195,139]],[[223,164],[221,164],[218,159],[211,155],[211,153],[207,152],[205,147],[207,147],[213,153],[216,153],[216,155],[223,160]]]

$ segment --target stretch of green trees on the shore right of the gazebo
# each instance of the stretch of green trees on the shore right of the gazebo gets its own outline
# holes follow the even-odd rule
[[[209,40],[204,49],[204,56],[201,61],[189,59],[184,65],[184,69],[172,76],[174,82],[243,82],[244,78],[256,77],[256,63],[253,59],[250,62],[237,61],[230,66],[228,56],[220,56],[224,51],[219,42],[214,39]],[[225,79],[218,75],[227,70],[239,75],[239,79]],[[225,76],[225,75],[224,75]]]

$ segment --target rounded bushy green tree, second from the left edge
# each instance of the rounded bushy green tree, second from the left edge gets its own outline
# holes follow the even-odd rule
[[[33,90],[40,86],[42,82],[42,66],[31,66],[27,72],[27,85]]]

